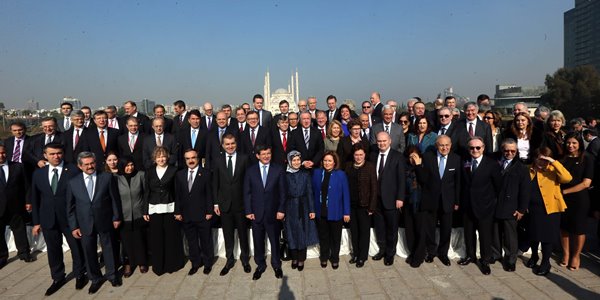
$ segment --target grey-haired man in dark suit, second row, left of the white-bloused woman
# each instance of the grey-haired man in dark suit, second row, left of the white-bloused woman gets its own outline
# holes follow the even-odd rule
[[[492,129],[484,121],[479,120],[477,113],[479,107],[475,102],[465,104],[465,118],[456,122],[454,128],[454,141],[452,150],[460,155],[463,160],[471,157],[469,151],[469,140],[471,137],[481,137],[485,145],[485,154],[492,154]]]

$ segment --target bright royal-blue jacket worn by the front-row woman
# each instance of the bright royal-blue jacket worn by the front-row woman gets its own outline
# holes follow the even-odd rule
[[[312,184],[315,198],[315,213],[321,216],[321,182],[323,181],[323,168],[313,172]],[[346,174],[341,170],[334,170],[329,179],[327,190],[327,220],[339,221],[344,216],[350,215],[350,187]]]

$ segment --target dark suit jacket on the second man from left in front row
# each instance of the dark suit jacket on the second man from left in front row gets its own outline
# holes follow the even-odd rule
[[[50,166],[47,165],[33,173],[30,198],[33,225],[41,225],[42,228],[52,228],[55,224],[68,227],[67,186],[69,180],[81,174],[81,171],[75,165],[64,163],[54,194],[48,179],[49,168]]]

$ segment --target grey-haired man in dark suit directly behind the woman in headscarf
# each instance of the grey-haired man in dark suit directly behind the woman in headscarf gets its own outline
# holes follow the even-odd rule
[[[287,153],[296,150],[302,154],[302,167],[308,170],[319,167],[325,151],[321,132],[311,127],[310,124],[310,113],[301,113],[301,128],[290,133],[290,141],[287,147]]]

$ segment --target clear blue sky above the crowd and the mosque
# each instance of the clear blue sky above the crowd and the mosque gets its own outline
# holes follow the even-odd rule
[[[240,104],[300,73],[300,96],[433,99],[542,85],[565,0],[0,1],[0,101]]]

